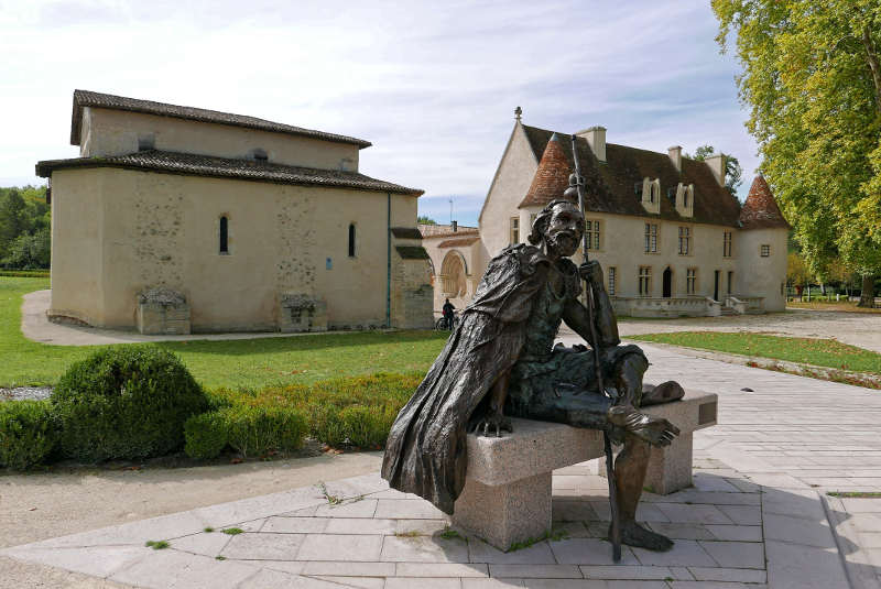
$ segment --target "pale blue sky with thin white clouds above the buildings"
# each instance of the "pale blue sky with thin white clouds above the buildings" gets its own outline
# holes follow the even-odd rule
[[[76,157],[74,89],[373,143],[360,172],[476,225],[514,124],[759,165],[709,1],[0,0],[0,186]]]

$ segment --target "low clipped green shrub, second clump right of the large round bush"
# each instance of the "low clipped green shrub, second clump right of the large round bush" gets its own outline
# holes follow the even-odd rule
[[[218,413],[226,422],[229,445],[243,457],[296,450],[306,436],[306,418],[294,408],[238,405]]]

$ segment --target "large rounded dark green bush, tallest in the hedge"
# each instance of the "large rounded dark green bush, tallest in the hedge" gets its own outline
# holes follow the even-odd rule
[[[75,362],[52,393],[61,449],[86,461],[162,456],[184,445],[184,423],[208,399],[173,353],[118,346]]]

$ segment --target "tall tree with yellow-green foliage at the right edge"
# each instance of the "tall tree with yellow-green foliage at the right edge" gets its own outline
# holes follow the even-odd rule
[[[736,36],[762,171],[812,273],[836,255],[874,306],[881,273],[881,3],[713,0]]]

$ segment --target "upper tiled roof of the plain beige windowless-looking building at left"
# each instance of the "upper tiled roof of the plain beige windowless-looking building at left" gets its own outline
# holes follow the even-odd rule
[[[233,127],[244,127],[247,129],[259,129],[261,131],[271,131],[274,133],[308,137],[336,143],[351,143],[358,145],[359,150],[371,145],[369,141],[365,141],[363,139],[325,133],[324,131],[315,131],[313,129],[303,129],[302,127],[267,121],[246,114],[232,114],[231,112],[219,112],[217,110],[207,110],[204,108],[181,107],[177,105],[167,105],[165,102],[126,98],[124,96],[113,96],[89,90],[74,90],[74,112],[70,119],[70,145],[79,145],[83,108],[85,107],[143,112],[146,114],[157,114],[160,117],[174,117],[176,119],[186,119],[191,121],[214,122]]]

